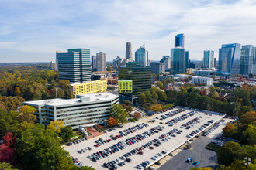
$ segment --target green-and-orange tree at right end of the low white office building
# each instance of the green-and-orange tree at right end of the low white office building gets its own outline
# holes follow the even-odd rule
[[[128,113],[121,104],[114,104],[109,110],[109,116],[116,119],[119,123],[125,123],[127,121],[126,117],[128,117]]]

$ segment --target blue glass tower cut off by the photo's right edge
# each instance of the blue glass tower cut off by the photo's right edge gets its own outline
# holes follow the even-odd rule
[[[242,46],[240,55],[240,74],[255,74],[255,47],[252,45]]]

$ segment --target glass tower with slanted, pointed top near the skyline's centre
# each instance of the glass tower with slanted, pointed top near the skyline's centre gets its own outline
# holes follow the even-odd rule
[[[145,45],[140,46],[135,52],[135,62],[140,63],[141,66],[148,66],[148,52]]]

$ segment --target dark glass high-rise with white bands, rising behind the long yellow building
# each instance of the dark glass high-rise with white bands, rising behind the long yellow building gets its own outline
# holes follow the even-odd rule
[[[59,80],[83,83],[91,80],[90,49],[68,49],[56,53]]]

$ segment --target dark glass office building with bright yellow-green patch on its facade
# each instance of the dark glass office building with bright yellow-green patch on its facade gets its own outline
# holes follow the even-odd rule
[[[122,86],[119,86],[120,101],[130,100],[133,104],[137,104],[140,93],[151,92],[150,66],[120,66],[118,80],[119,85],[122,83]]]

